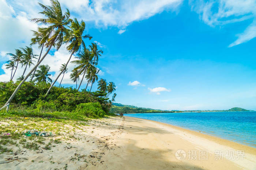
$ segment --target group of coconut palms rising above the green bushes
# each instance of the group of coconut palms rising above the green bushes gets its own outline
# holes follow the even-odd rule
[[[44,15],[45,18],[34,18],[30,21],[44,25],[44,27],[38,27],[37,31],[33,31],[33,38],[31,39],[30,46],[21,47],[15,49],[15,53],[7,53],[11,56],[11,60],[7,61],[6,68],[11,70],[10,81],[13,80],[14,75],[17,74],[16,70],[18,67],[24,68],[22,75],[17,79],[19,85],[16,87],[7,103],[11,103],[12,99],[15,97],[22,84],[30,77],[29,82],[33,83],[51,83],[45,96],[47,96],[50,90],[53,88],[56,81],[62,75],[59,87],[64,78],[65,73],[67,73],[67,65],[70,62],[73,55],[76,54],[75,60],[72,63],[75,64],[75,68],[70,74],[70,79],[76,84],[76,90],[80,89],[80,86],[84,79],[87,80],[87,89],[89,83],[91,83],[90,92],[92,86],[95,82],[98,82],[98,90],[106,92],[106,98],[112,94],[115,89],[114,82],[107,82],[105,79],[98,80],[99,68],[97,68],[99,56],[102,55],[103,51],[99,50],[96,43],[91,43],[89,48],[86,48],[84,39],[92,39],[89,34],[84,35],[84,29],[86,27],[83,20],[78,21],[76,18],[71,19],[69,10],[66,9],[65,12],[62,11],[61,5],[58,0],[50,0],[50,5],[43,5],[38,3],[43,11],[39,12]],[[60,47],[65,44],[66,49],[70,56],[66,63],[60,66],[59,74],[53,81],[50,79],[49,74],[50,67],[48,64],[40,65],[41,62],[48,55],[49,51],[54,47],[57,51]],[[40,50],[39,55],[33,53],[31,46],[37,45]],[[46,48],[45,54],[42,54],[43,49]],[[35,62],[37,59],[37,62]],[[27,73],[26,70],[33,66],[33,68]],[[81,78],[82,77],[82,78]],[[80,80],[80,83],[79,83]],[[116,93],[112,96],[112,101],[116,97]]]

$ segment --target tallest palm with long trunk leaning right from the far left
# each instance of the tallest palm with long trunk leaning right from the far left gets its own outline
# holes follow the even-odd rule
[[[48,35],[48,39],[44,44],[45,47],[48,49],[46,53],[42,56],[40,61],[31,69],[31,71],[25,76],[22,82],[20,82],[20,84],[17,86],[17,88],[5,104],[11,103],[12,99],[14,98],[22,84],[27,80],[27,78],[29,78],[35,68],[37,68],[39,64],[44,60],[45,56],[49,53],[52,46],[54,45],[56,50],[59,50],[63,43],[64,32],[67,30],[65,26],[71,22],[71,19],[69,19],[70,13],[68,9],[65,13],[62,12],[59,1],[50,0],[50,3],[51,5],[49,6],[38,3],[43,9],[43,11],[39,13],[43,14],[46,18],[31,19],[31,21],[34,21],[35,23],[48,25],[48,27],[42,29],[42,31],[45,32],[46,35]]]

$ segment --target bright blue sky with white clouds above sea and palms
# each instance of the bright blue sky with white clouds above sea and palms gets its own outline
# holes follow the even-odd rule
[[[0,7],[5,14],[0,17],[2,80],[10,75],[3,66],[5,53],[28,45],[27,30],[37,27],[27,19],[40,8],[19,2],[0,1],[7,5]],[[256,110],[255,1],[60,2],[86,21],[93,36],[87,43],[97,41],[104,51],[99,77],[116,84],[117,103],[164,110]],[[63,47],[46,58],[53,78],[67,57]],[[69,76],[64,86],[74,86]]]

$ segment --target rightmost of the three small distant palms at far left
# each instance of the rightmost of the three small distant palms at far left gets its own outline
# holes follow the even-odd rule
[[[33,59],[37,56],[33,54],[33,49],[31,47],[26,46],[26,48],[20,48],[23,51],[23,66],[25,65],[25,69],[23,71],[22,77],[24,77],[25,71],[27,70],[27,66],[31,66],[33,64]],[[33,64],[34,65],[34,64]]]

